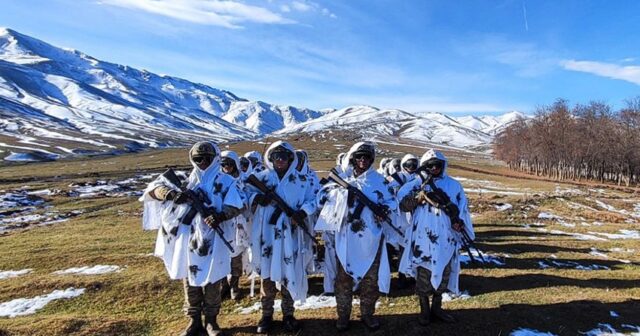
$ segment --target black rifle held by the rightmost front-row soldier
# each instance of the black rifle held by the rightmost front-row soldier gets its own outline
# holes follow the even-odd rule
[[[426,173],[426,172],[425,172]],[[424,176],[427,175],[427,176]],[[436,187],[433,182],[433,175],[431,174],[423,174],[423,172],[419,172],[419,176],[422,179],[422,185],[420,186],[420,190],[424,190],[424,188],[429,185],[431,187],[430,192],[424,194],[424,199],[427,203],[431,204],[433,207],[442,210],[451,220],[451,225],[458,225],[460,227],[460,235],[462,236],[462,248],[467,251],[469,254],[469,258],[471,258],[472,262],[476,262],[473,254],[471,253],[471,248],[474,248],[476,252],[478,252],[478,256],[482,259],[483,263],[486,263],[484,260],[484,256],[482,252],[473,244],[473,240],[467,233],[467,230],[464,228],[464,221],[460,218],[460,209],[458,206],[451,202],[451,198],[447,195],[444,190]]]

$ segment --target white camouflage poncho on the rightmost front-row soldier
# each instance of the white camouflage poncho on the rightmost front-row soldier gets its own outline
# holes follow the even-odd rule
[[[467,198],[462,185],[446,174],[447,160],[444,155],[430,150],[422,156],[420,164],[434,157],[445,162],[442,174],[434,178],[434,184],[446,192],[451,202],[458,206],[460,218],[465,223],[464,228],[471,239],[474,239]],[[402,200],[405,196],[419,191],[421,184],[422,180],[419,178],[405,184],[398,192],[398,199]],[[431,191],[431,187],[426,185],[424,190]],[[461,247],[461,237],[451,228],[451,220],[444,212],[426,204],[414,210],[412,224],[411,230],[407,231],[406,238],[409,244],[400,261],[400,271],[409,276],[415,276],[416,268],[424,267],[431,271],[431,284],[434,288],[438,288],[442,282],[444,268],[451,262],[451,275],[447,288],[453,293],[458,293],[460,276],[458,251]]]

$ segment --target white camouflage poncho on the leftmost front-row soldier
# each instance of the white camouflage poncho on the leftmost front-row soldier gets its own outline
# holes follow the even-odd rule
[[[218,148],[213,144],[216,152]],[[221,211],[223,205],[242,208],[243,202],[236,182],[220,172],[220,159],[216,157],[206,170],[192,161],[194,169],[188,178],[187,188],[202,190],[210,202],[208,206]],[[171,201],[158,201],[149,195],[156,187],[164,185],[174,190],[164,177],[151,182],[140,198],[144,202],[143,228],[158,229],[155,255],[162,258],[171,279],[187,278],[191,286],[215,283],[231,272],[230,252],[214,230],[197,214],[191,225],[181,224],[181,219],[191,205],[175,205]],[[221,223],[225,236],[233,237],[231,221]]]

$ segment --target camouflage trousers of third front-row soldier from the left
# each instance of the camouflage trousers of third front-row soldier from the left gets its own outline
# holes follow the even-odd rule
[[[380,297],[378,289],[378,269],[380,268],[380,255],[382,244],[378,247],[376,258],[371,267],[360,281],[360,316],[370,316],[376,311],[376,301]],[[351,316],[351,302],[353,301],[353,278],[344,270],[338,260],[338,274],[335,285],[338,317]]]

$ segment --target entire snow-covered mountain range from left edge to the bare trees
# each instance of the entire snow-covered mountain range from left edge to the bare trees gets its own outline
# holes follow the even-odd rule
[[[327,130],[479,148],[522,116],[453,118],[370,106],[314,111],[248,101],[0,28],[0,157],[5,160]]]

